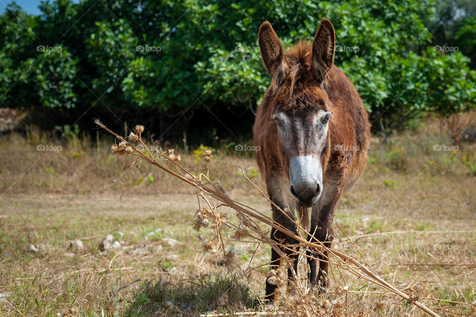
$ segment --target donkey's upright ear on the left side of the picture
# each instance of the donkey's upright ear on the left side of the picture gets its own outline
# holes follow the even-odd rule
[[[264,67],[272,78],[271,87],[276,89],[286,78],[289,66],[278,35],[268,21],[264,21],[259,27],[258,45]]]

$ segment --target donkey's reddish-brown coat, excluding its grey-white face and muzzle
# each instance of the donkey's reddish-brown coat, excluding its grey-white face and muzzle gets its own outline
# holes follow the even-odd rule
[[[307,114],[320,110],[332,112],[328,123],[327,145],[321,154],[323,192],[317,204],[312,207],[310,227],[311,234],[315,233],[314,236],[319,241],[330,245],[336,204],[342,192],[362,175],[366,165],[370,134],[368,114],[354,85],[333,64],[335,35],[329,20],[322,19],[312,43],[300,41],[284,54],[269,22],[262,24],[259,35],[263,63],[272,77],[272,83],[258,108],[253,127],[254,144],[260,147],[256,158],[270,198],[283,209],[290,206],[293,217],[293,209],[299,212],[300,209],[307,208],[299,208],[290,200],[289,192],[286,192],[286,186],[289,187],[290,159],[283,152],[273,114],[284,112],[289,116],[306,118]],[[335,145],[340,146],[339,150],[333,148]],[[296,144],[293,148],[295,155],[308,151],[310,146],[307,143]],[[308,219],[306,210],[301,218]],[[296,230],[276,208],[273,208],[273,217]],[[294,242],[275,231],[272,231],[272,238],[288,239],[289,244]],[[276,268],[279,261],[277,256],[279,257],[272,254],[272,269]],[[320,263],[317,277],[316,272],[312,272],[316,263],[311,261],[310,265],[311,286],[315,286],[320,279],[321,286],[325,287],[328,283],[325,276],[327,262]],[[267,282],[267,299],[274,299],[274,289],[275,286]]]

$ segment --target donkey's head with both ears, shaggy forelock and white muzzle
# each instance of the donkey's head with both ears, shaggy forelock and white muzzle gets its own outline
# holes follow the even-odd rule
[[[286,54],[269,22],[261,24],[258,35],[261,57],[272,78],[273,129],[288,169],[289,190],[300,205],[310,207],[322,193],[330,153],[332,105],[324,86],[334,63],[334,27],[323,18],[312,44],[299,42]]]

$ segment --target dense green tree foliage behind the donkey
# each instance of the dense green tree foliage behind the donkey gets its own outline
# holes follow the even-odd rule
[[[335,63],[388,133],[427,112],[475,107],[474,5],[450,2],[56,0],[42,2],[39,16],[11,4],[0,16],[0,100],[64,114],[249,114],[270,82],[259,25],[269,20],[289,47],[312,40],[325,16],[336,30]],[[454,43],[459,52],[436,47]]]

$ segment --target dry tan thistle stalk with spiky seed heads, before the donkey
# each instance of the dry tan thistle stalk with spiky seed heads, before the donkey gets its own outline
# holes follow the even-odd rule
[[[210,165],[212,162],[212,151],[208,150],[203,154],[203,160],[205,162],[203,165],[204,173],[193,175],[190,171],[186,170],[179,164],[180,156],[176,155],[173,149],[166,152],[157,151],[156,153],[152,154],[141,138],[141,133],[144,131],[143,126],[137,125],[134,128],[134,132],[131,132],[129,136],[124,138],[104,126],[99,120],[95,120],[95,123],[119,139],[119,144],[113,144],[111,147],[111,151],[113,153],[118,155],[137,156],[136,163],[145,160],[148,163],[157,166],[164,172],[173,175],[183,183],[193,187],[196,190],[198,209],[195,213],[193,228],[197,231],[208,231],[208,234],[202,243],[204,252],[221,253],[223,256],[223,264],[227,268],[230,270],[237,268],[238,261],[235,254],[232,251],[226,250],[223,241],[223,230],[228,228],[234,232],[234,237],[236,240],[242,241],[244,239],[248,239],[248,241],[267,244],[281,255],[282,262],[279,269],[271,270],[268,273],[268,281],[276,283],[278,286],[286,284],[289,286],[291,295],[283,294],[281,297],[284,305],[282,306],[283,310],[280,311],[280,314],[288,316],[310,316],[311,314],[314,316],[347,316],[349,313],[349,308],[347,306],[349,286],[347,285],[344,276],[347,275],[374,283],[375,285],[386,289],[386,294],[397,295],[401,297],[402,300],[406,300],[409,304],[415,305],[429,316],[439,317],[438,314],[423,305],[422,302],[419,301],[418,297],[399,290],[392,283],[389,283],[378,276],[376,271],[367,263],[362,254],[359,253],[365,264],[360,263],[352,256],[346,255],[331,248],[327,248],[322,243],[308,242],[304,238],[309,234],[306,229],[291,219],[284,210],[279,208],[279,206],[276,206],[276,208],[278,208],[278,210],[283,212],[286,217],[292,220],[298,228],[297,234],[274,222],[269,216],[266,216],[256,209],[229,197],[226,191],[220,185],[214,183],[209,178]],[[139,145],[141,145],[141,148],[143,147],[146,149],[147,152],[141,151],[139,149]],[[148,153],[148,155],[146,155],[146,153]],[[174,168],[168,168],[164,164],[161,164],[164,162],[172,163]],[[246,180],[256,190],[258,190],[263,195],[263,197],[265,197],[265,199],[268,199],[271,203],[273,203],[262,190],[260,190],[246,177],[244,171],[243,177],[246,178]],[[217,203],[213,203],[213,201],[217,201]],[[226,214],[219,211],[219,208],[223,207],[229,207],[234,211],[235,216],[238,218],[238,224],[232,223]],[[267,225],[274,228],[275,230],[279,230],[282,233],[293,237],[298,241],[298,245],[286,245],[272,240],[268,233],[260,228],[260,224]],[[347,235],[342,230],[341,232],[358,251],[355,244],[347,237]],[[303,234],[305,236],[303,236]],[[297,247],[300,248],[300,251],[297,251]],[[305,263],[306,257],[319,260],[315,257],[316,255],[310,255],[312,253],[306,253],[306,251],[312,251],[313,254],[323,255],[323,258],[330,264],[329,275],[334,281],[335,287],[338,290],[337,292],[340,295],[340,299],[329,302],[322,296],[316,298],[307,285],[307,277],[301,276],[299,270],[294,270],[293,260],[285,254],[286,250],[291,251],[294,254],[298,254],[298,261],[303,263]],[[306,265],[304,264],[304,266]],[[294,276],[293,280],[288,280],[287,274],[284,273],[284,271],[287,269],[291,269]],[[343,274],[344,272],[346,274]],[[343,281],[344,286],[342,286],[342,284],[339,282],[340,280]],[[279,288],[277,290],[279,292]],[[227,294],[223,295],[223,300],[221,302],[225,303],[224,299],[226,298],[226,295]]]

